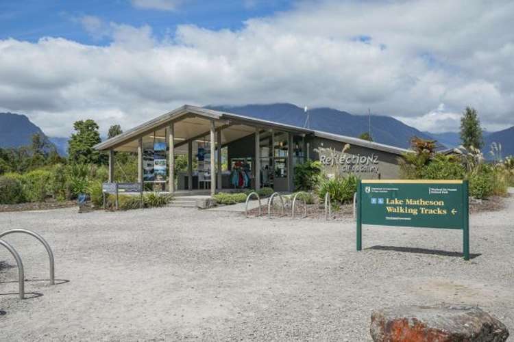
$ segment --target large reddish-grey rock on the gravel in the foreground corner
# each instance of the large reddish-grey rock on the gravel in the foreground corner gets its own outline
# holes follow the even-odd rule
[[[503,342],[506,326],[476,306],[398,306],[371,314],[375,342]]]

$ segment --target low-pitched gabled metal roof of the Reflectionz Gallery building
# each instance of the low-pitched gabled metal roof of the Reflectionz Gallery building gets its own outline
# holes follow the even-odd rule
[[[367,140],[358,139],[356,137],[348,137],[346,135],[339,135],[339,134],[328,133],[328,132],[323,132],[323,131],[315,131],[312,129],[306,129],[304,127],[297,127],[297,126],[293,126],[290,124],[283,124],[280,122],[262,120],[259,118],[254,118],[252,116],[244,116],[241,114],[234,114],[234,113],[229,113],[229,112],[224,112],[224,111],[216,111],[216,110],[206,109],[206,108],[192,106],[192,105],[183,105],[182,107],[179,107],[173,111],[169,111],[168,113],[158,116],[157,118],[155,118],[153,120],[147,121],[143,124],[140,124],[137,127],[134,127],[133,129],[130,129],[128,131],[121,133],[120,135],[112,137],[112,138],[106,140],[105,142],[101,142],[100,144],[95,145],[95,148],[97,150],[108,150],[109,148],[112,148],[113,146],[119,146],[120,144],[123,144],[123,142],[133,140],[136,137],[140,136],[142,133],[150,131],[151,129],[156,129],[158,127],[162,127],[167,122],[169,122],[175,118],[179,118],[180,116],[184,116],[186,114],[196,114],[198,116],[205,116],[206,118],[212,118],[215,120],[238,120],[238,121],[247,122],[247,124],[255,124],[256,126],[260,125],[260,126],[276,127],[278,129],[284,129],[286,131],[294,131],[294,132],[303,133],[303,134],[312,134],[317,137],[322,137],[325,139],[335,140],[335,141],[339,141],[339,142],[345,142],[347,144],[354,144],[356,146],[372,148],[375,150],[382,150],[384,152],[394,153],[397,155],[401,155],[402,153],[406,153],[406,152],[410,151],[405,148],[399,148],[396,146],[379,144],[377,142],[369,142]]]

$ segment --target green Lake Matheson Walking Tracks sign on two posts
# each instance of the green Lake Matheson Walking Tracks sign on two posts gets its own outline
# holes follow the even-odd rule
[[[362,225],[411,226],[463,230],[464,259],[469,259],[467,181],[359,181],[357,250]]]

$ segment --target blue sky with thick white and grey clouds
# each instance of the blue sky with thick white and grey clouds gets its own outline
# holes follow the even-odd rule
[[[514,125],[513,18],[501,0],[2,0],[0,111],[67,136],[288,102],[441,132],[472,105],[493,131]]]

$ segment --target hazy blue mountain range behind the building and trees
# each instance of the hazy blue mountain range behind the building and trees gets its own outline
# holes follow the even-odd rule
[[[452,148],[461,144],[460,136],[456,132],[422,132],[391,116],[354,115],[327,107],[308,109],[306,113],[303,108],[289,103],[242,106],[211,105],[206,108],[351,137],[358,137],[371,127],[371,137],[375,142],[402,148],[409,147],[409,141],[413,136],[437,140],[441,148]],[[128,129],[130,127],[123,128]],[[27,116],[0,113],[0,147],[17,147],[30,144],[34,133],[40,133],[47,137]],[[47,139],[56,146],[61,155],[66,155],[67,137],[47,137]],[[502,155],[514,155],[514,127],[498,132],[485,132],[484,140],[486,156],[489,155],[492,142],[502,144]]]

